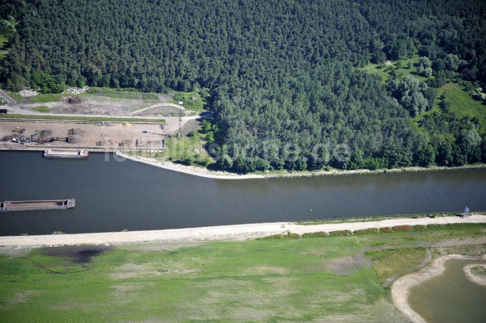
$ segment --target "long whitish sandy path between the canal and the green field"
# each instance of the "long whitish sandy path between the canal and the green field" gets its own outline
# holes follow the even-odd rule
[[[438,217],[438,218],[399,218],[368,222],[326,223],[317,225],[298,225],[289,222],[253,223],[238,225],[222,225],[199,228],[167,229],[150,231],[82,233],[66,235],[43,236],[11,236],[0,237],[0,246],[52,246],[77,244],[110,244],[120,242],[142,241],[194,241],[216,239],[248,239],[285,233],[287,231],[303,234],[306,232],[334,230],[358,230],[372,227],[384,227],[403,224],[430,224],[430,223],[456,223],[456,222],[486,222],[485,215],[474,214],[468,218]],[[284,226],[284,227],[282,227]]]

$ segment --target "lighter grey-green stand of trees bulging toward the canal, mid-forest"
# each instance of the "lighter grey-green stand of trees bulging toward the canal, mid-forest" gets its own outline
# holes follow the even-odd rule
[[[412,130],[408,112],[378,79],[349,64],[301,72],[238,104],[218,101],[214,110],[222,153],[254,157],[235,160],[240,172],[427,164],[427,142]]]

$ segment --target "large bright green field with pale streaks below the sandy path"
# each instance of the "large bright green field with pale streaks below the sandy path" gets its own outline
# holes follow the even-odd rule
[[[1,321],[406,322],[381,281],[422,260],[424,247],[414,247],[418,242],[485,237],[485,227],[476,227],[200,245],[121,244],[87,264],[46,255],[49,248],[14,251],[0,255]],[[370,264],[363,252],[377,246],[384,249],[368,253],[374,259]],[[484,253],[486,245],[469,250]]]

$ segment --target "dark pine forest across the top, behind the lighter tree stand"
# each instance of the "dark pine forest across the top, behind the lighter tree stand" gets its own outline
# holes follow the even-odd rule
[[[486,81],[486,4],[469,0],[2,0],[17,32],[2,65],[13,89],[58,83],[142,91],[205,86],[237,96],[325,58],[363,66],[449,53]]]

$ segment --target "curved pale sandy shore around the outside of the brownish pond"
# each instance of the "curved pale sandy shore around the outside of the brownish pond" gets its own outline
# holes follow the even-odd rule
[[[393,283],[391,288],[393,303],[413,323],[427,322],[416,311],[414,311],[408,303],[408,295],[410,293],[410,289],[444,272],[444,264],[449,259],[486,259],[486,255],[483,255],[482,257],[468,257],[465,255],[443,255],[435,259],[432,264],[425,267],[421,271],[410,273],[397,279]]]

